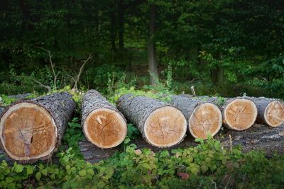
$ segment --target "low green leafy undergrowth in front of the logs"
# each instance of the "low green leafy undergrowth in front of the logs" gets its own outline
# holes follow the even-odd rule
[[[76,127],[76,126],[74,126]],[[124,152],[90,164],[73,149],[59,164],[0,164],[1,188],[281,188],[284,156],[231,151],[209,137],[197,147],[154,153],[129,144]],[[259,166],[262,165],[262,166]]]

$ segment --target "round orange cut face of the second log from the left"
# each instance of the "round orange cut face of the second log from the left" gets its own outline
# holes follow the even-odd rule
[[[116,147],[124,141],[127,125],[114,110],[98,108],[87,116],[83,131],[87,139],[99,148]]]

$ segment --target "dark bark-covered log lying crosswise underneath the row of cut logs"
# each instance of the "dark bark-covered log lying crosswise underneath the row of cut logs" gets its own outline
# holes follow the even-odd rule
[[[266,156],[270,157],[277,152],[278,154],[284,154],[284,125],[271,129],[266,125],[254,124],[246,132],[239,132],[236,130],[225,130],[224,133],[218,133],[215,135],[216,139],[222,142],[222,145],[226,149],[231,147],[241,146],[242,151],[251,150],[262,150],[266,153]],[[153,151],[161,151],[158,147],[153,147],[148,144],[144,139],[138,137],[131,141],[136,144],[137,149],[152,149]],[[178,149],[187,147],[196,147],[197,142],[192,137],[185,137],[184,141],[174,147],[167,148]],[[84,155],[84,159],[91,163],[99,162],[107,159],[115,153],[124,151],[124,147],[115,147],[113,149],[100,149],[95,147],[92,143],[88,142],[87,139],[83,139],[79,142],[81,153]]]

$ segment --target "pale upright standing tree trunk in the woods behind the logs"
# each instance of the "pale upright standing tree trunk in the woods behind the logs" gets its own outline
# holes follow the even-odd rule
[[[158,80],[158,69],[155,55],[155,41],[153,40],[155,32],[155,4],[150,5],[150,28],[148,38],[148,67],[150,71],[150,84],[155,85]]]

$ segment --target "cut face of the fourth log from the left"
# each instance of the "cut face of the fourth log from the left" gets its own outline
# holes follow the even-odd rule
[[[222,127],[222,113],[212,103],[202,103],[195,108],[189,119],[190,133],[195,138],[213,137]]]

